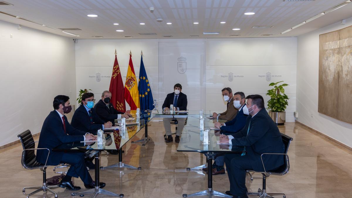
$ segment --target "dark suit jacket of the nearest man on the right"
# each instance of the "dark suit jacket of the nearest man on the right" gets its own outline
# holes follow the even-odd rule
[[[253,118],[247,116],[245,127],[232,136],[234,137],[231,140],[232,146],[246,146],[254,171],[264,171],[260,160],[261,154],[284,153],[285,150],[280,131],[265,108],[260,110]],[[264,155],[263,161],[265,169],[272,170],[283,165],[284,157],[283,155]]]

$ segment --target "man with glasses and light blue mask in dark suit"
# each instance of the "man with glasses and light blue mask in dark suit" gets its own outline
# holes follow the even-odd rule
[[[99,129],[109,128],[112,123],[110,121],[104,122],[99,118],[93,108],[94,101],[93,93],[82,94],[81,105],[73,114],[71,124],[78,130],[96,135]]]

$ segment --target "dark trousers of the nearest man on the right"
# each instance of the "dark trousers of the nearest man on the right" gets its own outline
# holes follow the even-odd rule
[[[228,179],[230,180],[230,193],[233,196],[245,196],[248,192],[246,187],[246,169],[252,169],[247,155],[226,154],[225,164]]]

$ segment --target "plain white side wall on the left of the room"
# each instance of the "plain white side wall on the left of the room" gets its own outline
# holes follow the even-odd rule
[[[75,103],[74,54],[71,38],[0,21],[0,145],[40,132],[56,95]]]

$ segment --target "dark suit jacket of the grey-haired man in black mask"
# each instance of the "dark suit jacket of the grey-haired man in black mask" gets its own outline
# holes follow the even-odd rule
[[[99,100],[99,102],[95,104],[94,110],[96,114],[98,114],[99,118],[102,119],[104,122],[110,121],[115,124],[115,119],[118,118],[118,115],[124,113],[117,111],[111,103],[109,103],[108,105],[109,108],[106,106],[104,101]]]

